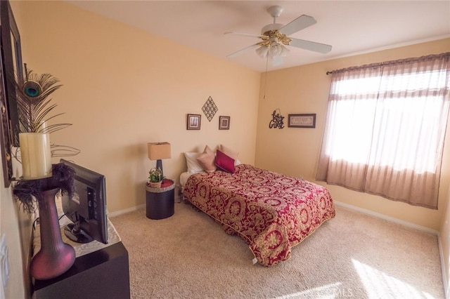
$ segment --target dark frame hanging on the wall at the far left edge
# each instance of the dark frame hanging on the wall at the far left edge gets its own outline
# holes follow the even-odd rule
[[[19,120],[16,102],[15,80],[23,82],[23,62],[20,34],[9,1],[0,1],[1,42],[1,160],[5,187],[13,179],[11,147],[19,146]]]

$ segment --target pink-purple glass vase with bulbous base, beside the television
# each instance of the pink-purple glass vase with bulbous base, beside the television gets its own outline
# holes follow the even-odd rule
[[[55,195],[59,189],[41,192],[38,199],[41,250],[30,263],[30,273],[35,279],[45,280],[63,274],[75,262],[75,249],[63,242],[56,211]]]

